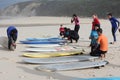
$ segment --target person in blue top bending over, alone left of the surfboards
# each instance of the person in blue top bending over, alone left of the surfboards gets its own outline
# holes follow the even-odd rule
[[[18,36],[18,31],[14,26],[9,26],[7,28],[7,36],[8,36],[8,49],[11,50],[11,45],[16,48],[16,40]]]

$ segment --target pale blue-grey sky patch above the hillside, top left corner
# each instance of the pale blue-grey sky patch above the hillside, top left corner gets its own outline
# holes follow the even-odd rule
[[[0,9],[24,1],[31,1],[31,0],[0,0]]]

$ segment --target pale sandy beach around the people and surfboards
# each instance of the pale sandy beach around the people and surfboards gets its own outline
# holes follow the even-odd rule
[[[0,20],[0,36],[6,36],[6,29],[9,25],[15,25],[18,29],[17,48],[9,51],[0,47],[0,80],[74,80],[74,78],[93,77],[119,77],[120,76],[120,33],[117,31],[117,43],[109,44],[106,59],[110,64],[100,69],[82,69],[58,72],[43,72],[35,68],[39,65],[24,64],[21,55],[26,48],[25,44],[20,44],[20,40],[34,37],[52,37],[59,35],[59,26],[74,28],[69,17],[22,17]],[[100,19],[103,33],[108,41],[113,40],[111,24],[109,20]],[[80,40],[73,43],[81,46],[86,52],[90,52],[89,35],[92,19],[80,18]],[[88,54],[88,53],[86,53]]]

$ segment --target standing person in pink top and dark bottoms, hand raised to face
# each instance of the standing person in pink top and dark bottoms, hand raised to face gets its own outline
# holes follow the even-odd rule
[[[74,31],[76,31],[78,33],[78,31],[80,29],[80,21],[76,14],[73,14],[73,18],[71,19],[71,23],[73,23],[73,22],[75,23]]]

